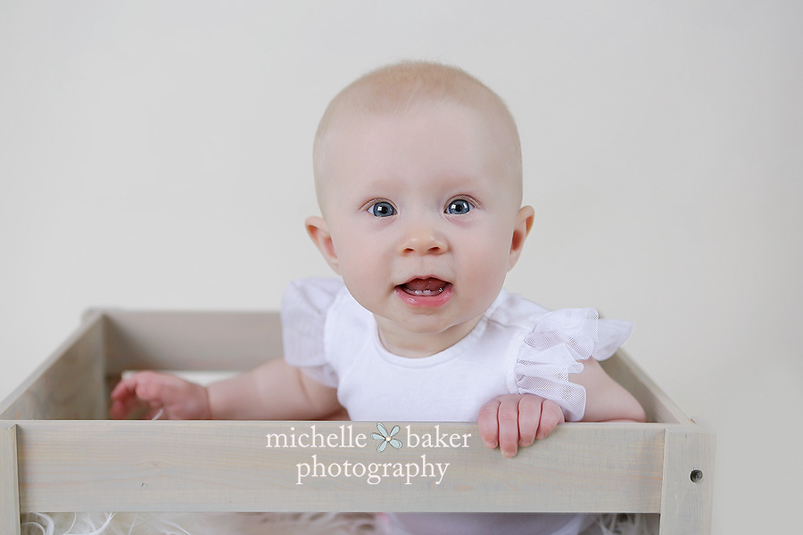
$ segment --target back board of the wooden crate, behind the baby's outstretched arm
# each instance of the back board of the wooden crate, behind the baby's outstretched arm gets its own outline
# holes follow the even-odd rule
[[[104,310],[107,371],[250,370],[282,355],[277,312]]]

